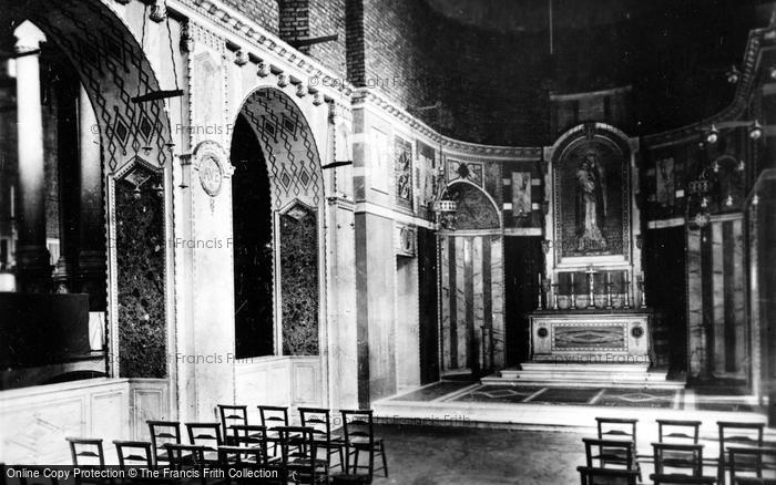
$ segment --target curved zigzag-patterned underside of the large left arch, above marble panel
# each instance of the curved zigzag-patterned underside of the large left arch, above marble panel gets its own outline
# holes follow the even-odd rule
[[[139,22],[149,13],[140,2],[125,9],[126,17]],[[78,71],[98,117],[105,172],[121,168],[139,154],[159,167],[171,162],[164,102],[131,101],[160,90],[159,80],[142,45],[113,10],[96,0],[69,0],[11,3],[10,14],[37,24]]]

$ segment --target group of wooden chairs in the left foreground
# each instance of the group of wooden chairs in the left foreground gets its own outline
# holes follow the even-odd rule
[[[372,411],[340,411],[343,435],[335,435],[329,410],[299,407],[302,425],[292,426],[287,407],[258,409],[262,424],[252,425],[248,424],[247,406],[218,405],[221,422],[184,423],[188,444],[182,443],[180,422],[147,421],[151,441],[114,442],[120,465],[159,467],[188,461],[193,464],[226,466],[228,460],[225,462],[225,458],[243,457],[265,465],[279,463],[280,472],[292,469],[299,476],[308,476],[312,471],[294,471],[298,463],[314,463],[323,466],[325,473],[318,471],[313,476],[328,477],[333,471],[331,457],[338,456],[336,466],[345,475],[353,473],[371,481],[375,472],[382,471],[388,476],[385,443],[375,436]],[[69,441],[74,465],[104,467],[102,441]],[[241,451],[245,453],[241,454]],[[320,454],[325,458],[320,460]],[[368,458],[366,464],[361,464],[363,455]],[[376,467],[378,457],[381,458],[380,467]],[[83,463],[84,460],[91,460],[92,463]]]

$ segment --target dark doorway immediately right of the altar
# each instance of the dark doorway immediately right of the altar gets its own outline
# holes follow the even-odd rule
[[[671,373],[687,370],[685,228],[651,229],[644,247],[646,301],[653,309],[655,364]]]

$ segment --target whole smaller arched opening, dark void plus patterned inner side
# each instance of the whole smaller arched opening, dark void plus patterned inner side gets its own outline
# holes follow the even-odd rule
[[[286,94],[247,97],[232,164],[236,355],[318,355],[323,178],[310,128]]]

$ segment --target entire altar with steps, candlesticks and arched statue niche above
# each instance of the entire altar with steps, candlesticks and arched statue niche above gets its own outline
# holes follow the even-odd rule
[[[501,381],[672,385],[652,367],[637,149],[637,138],[603,123],[575,126],[545,148],[545,257],[527,316],[529,355]]]

